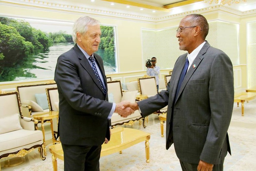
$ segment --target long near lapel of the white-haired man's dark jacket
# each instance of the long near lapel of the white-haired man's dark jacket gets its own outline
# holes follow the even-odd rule
[[[74,49],[75,51],[77,52],[78,54],[78,58],[81,60],[81,65],[83,66],[83,68],[89,73],[89,75],[92,77],[93,81],[95,82],[95,84],[99,87],[99,89],[103,92],[102,88],[101,88],[101,85],[98,81],[98,78],[97,76],[95,75],[93,69],[92,69],[92,66],[90,65],[88,59],[84,56],[83,52],[78,48],[77,45],[74,46]],[[98,64],[98,62],[97,62]],[[104,77],[104,75],[103,75]]]

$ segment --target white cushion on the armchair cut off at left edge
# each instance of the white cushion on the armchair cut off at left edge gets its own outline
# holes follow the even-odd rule
[[[8,133],[22,129],[20,125],[20,115],[15,113],[3,118],[0,118],[0,134]]]

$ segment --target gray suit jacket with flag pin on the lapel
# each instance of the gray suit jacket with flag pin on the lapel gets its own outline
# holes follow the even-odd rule
[[[185,61],[186,54],[177,59],[167,91],[138,105],[145,117],[168,104],[166,149],[174,143],[181,161],[219,164],[227,151],[231,154],[227,130],[234,104],[233,66],[223,51],[206,42],[173,102]]]

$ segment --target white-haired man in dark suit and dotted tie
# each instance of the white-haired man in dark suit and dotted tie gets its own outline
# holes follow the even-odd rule
[[[134,112],[108,102],[103,61],[96,52],[99,21],[80,17],[73,25],[73,48],[58,57],[55,78],[59,93],[58,133],[65,171],[99,171],[101,145],[110,140],[111,116]]]

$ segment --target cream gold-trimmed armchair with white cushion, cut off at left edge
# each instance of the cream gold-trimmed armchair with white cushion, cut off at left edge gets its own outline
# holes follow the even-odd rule
[[[22,115],[17,91],[0,91],[0,111],[0,159],[23,157],[39,148],[40,157],[45,160],[43,134],[35,129],[38,121]]]

